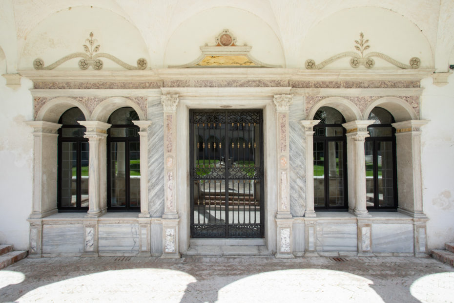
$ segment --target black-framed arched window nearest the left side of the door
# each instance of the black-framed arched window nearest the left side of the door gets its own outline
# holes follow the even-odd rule
[[[115,110],[107,121],[107,208],[140,211],[140,120],[133,108]]]

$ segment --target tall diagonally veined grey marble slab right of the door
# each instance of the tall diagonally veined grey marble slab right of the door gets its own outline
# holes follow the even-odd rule
[[[306,209],[306,149],[303,127],[289,122],[290,213],[303,216]]]

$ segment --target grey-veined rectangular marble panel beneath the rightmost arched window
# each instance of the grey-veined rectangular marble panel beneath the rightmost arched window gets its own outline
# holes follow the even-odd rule
[[[372,252],[413,253],[413,224],[372,224]]]

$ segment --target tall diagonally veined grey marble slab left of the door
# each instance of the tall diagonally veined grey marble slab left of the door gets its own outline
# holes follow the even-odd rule
[[[161,99],[148,101],[148,207],[152,217],[164,213],[164,116]]]

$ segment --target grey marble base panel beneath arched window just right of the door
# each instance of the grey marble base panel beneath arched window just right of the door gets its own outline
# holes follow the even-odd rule
[[[356,224],[317,223],[317,251],[356,252]]]

